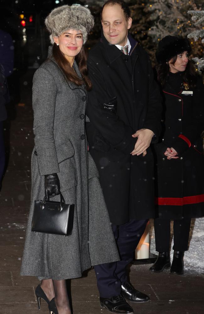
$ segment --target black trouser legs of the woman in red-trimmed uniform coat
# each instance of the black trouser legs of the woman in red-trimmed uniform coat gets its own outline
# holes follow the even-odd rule
[[[187,251],[191,218],[174,220],[174,251]],[[154,219],[154,233],[157,252],[169,252],[170,219]]]

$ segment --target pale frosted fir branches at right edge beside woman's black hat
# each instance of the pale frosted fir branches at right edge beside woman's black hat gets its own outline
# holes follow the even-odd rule
[[[195,26],[204,25],[204,11],[188,11],[192,15],[192,21],[195,21]],[[204,44],[204,26],[200,30],[194,30],[188,35],[188,38],[193,38],[195,41],[201,41]],[[203,49],[201,48],[201,51]],[[196,63],[196,70],[201,74],[204,71],[204,57],[194,57],[192,60]]]

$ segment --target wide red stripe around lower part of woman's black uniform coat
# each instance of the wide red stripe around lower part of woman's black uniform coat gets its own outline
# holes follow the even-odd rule
[[[155,198],[156,205],[174,205],[183,206],[188,204],[197,204],[204,202],[204,194],[179,197],[157,197]]]

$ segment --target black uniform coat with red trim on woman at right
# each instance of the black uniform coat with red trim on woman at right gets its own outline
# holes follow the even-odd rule
[[[190,94],[183,93],[182,85]],[[182,73],[170,74],[163,96],[162,138],[154,145],[158,216],[164,219],[201,217],[204,216],[202,79],[198,77],[196,86],[189,88]],[[164,156],[167,147],[173,147],[179,158],[167,160]]]

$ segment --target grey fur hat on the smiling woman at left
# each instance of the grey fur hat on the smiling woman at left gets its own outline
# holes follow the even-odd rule
[[[46,28],[49,31],[50,40],[54,44],[54,37],[60,36],[66,30],[81,30],[83,43],[94,26],[94,17],[90,10],[81,5],[62,5],[55,8],[45,19]]]

